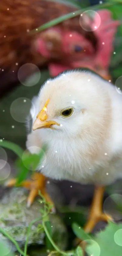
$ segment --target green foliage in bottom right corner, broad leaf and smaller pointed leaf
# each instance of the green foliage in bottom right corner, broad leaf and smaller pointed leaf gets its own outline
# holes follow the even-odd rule
[[[122,236],[119,238],[115,234],[122,230],[122,224],[110,222],[105,230],[97,233],[96,236],[86,234],[76,223],[72,225],[74,233],[81,240],[86,242],[85,251],[89,256],[121,256],[122,255]],[[122,232],[121,232],[122,234]],[[118,245],[117,244],[118,239]]]

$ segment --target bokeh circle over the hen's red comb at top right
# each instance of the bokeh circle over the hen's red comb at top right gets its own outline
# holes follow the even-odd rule
[[[87,10],[81,13],[79,23],[85,31],[95,31],[100,27],[101,17],[97,12]]]

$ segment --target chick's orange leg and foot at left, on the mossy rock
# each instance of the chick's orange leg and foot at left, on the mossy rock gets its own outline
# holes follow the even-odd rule
[[[35,172],[35,174],[31,177],[31,179],[25,180],[20,183],[19,186],[30,190],[28,200],[27,200],[28,207],[33,203],[35,197],[38,195],[38,191],[41,192],[41,194],[45,197],[45,200],[47,202],[49,202],[52,206],[54,205],[45,188],[46,180],[47,178],[42,173]],[[11,179],[7,183],[7,186],[8,187],[16,186],[16,179]]]

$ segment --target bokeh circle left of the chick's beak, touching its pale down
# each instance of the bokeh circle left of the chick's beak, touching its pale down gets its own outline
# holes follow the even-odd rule
[[[33,106],[33,113],[30,114],[30,108]],[[19,123],[25,123],[28,117],[28,121],[35,115],[35,106],[30,99],[18,98],[15,99],[10,106],[10,113]]]

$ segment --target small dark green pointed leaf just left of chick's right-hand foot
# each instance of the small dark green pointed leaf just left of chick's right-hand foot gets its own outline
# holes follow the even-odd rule
[[[81,240],[93,239],[92,236],[85,233],[85,231],[77,223],[72,224],[72,229],[74,234]]]

